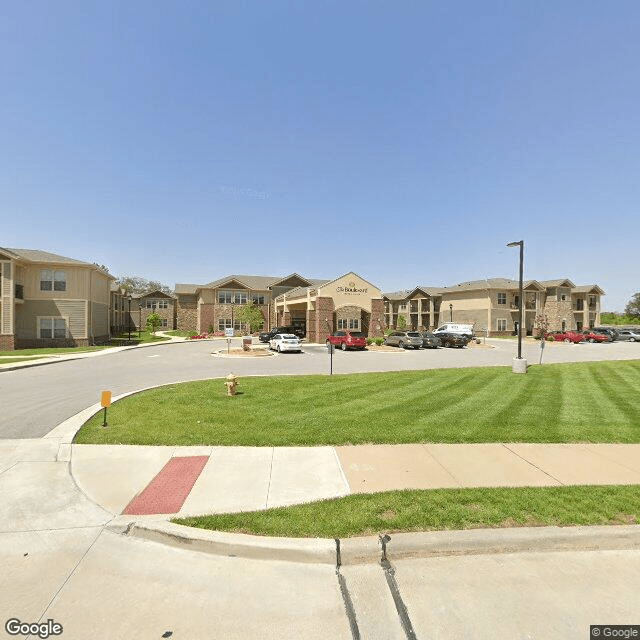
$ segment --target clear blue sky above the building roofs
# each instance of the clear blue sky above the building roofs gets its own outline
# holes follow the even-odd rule
[[[640,291],[640,3],[0,7],[0,246],[173,285]]]

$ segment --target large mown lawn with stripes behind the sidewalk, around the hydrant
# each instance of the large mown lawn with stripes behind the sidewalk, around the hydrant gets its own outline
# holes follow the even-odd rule
[[[300,446],[640,442],[640,361],[175,384],[125,398],[78,443]]]

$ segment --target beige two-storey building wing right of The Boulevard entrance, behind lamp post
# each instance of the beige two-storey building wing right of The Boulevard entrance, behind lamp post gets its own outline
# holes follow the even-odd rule
[[[523,329],[533,335],[538,316],[546,316],[549,330],[580,331],[600,323],[598,285],[576,286],[569,279],[528,280],[523,283]],[[396,327],[404,315],[413,329],[435,329],[445,322],[472,324],[477,334],[513,335],[518,329],[519,283],[487,278],[450,287],[417,287],[384,294],[385,316]]]

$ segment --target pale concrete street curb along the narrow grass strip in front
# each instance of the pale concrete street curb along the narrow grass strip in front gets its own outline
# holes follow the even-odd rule
[[[107,529],[121,535],[214,555],[257,560],[355,565],[378,563],[382,536],[273,538],[208,531],[166,520],[116,518]],[[522,527],[398,533],[384,536],[387,557],[433,558],[503,553],[639,550],[640,526]]]

